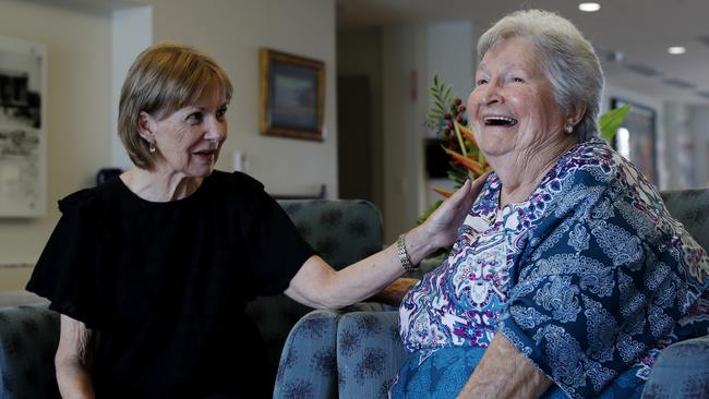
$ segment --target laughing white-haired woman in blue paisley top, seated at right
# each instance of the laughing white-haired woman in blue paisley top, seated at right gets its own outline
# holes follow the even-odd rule
[[[494,171],[401,302],[390,394],[639,397],[664,347],[707,331],[707,254],[597,138],[601,66],[570,22],[515,12],[478,57],[468,110]]]

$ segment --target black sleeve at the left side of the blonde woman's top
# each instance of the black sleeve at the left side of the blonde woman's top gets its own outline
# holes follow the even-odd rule
[[[49,309],[100,325],[98,254],[101,232],[95,189],[59,201],[62,213],[32,274],[26,290],[49,299]]]

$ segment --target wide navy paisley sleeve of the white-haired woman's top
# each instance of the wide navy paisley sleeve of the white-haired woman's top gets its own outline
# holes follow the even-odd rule
[[[706,289],[686,278],[694,240],[654,189],[633,167],[606,166],[560,179],[498,326],[572,398],[598,397]]]

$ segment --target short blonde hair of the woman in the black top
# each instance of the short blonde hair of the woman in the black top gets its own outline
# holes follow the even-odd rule
[[[212,57],[195,48],[160,43],[141,52],[123,82],[118,110],[118,135],[133,164],[148,170],[155,166],[137,129],[141,111],[160,119],[215,86],[228,102],[233,90],[229,76]]]

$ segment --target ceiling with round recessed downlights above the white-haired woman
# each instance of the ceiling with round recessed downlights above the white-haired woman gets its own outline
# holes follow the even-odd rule
[[[708,0],[596,1],[601,10],[587,13],[576,0],[337,0],[337,28],[472,21],[482,32],[514,10],[555,11],[593,44],[609,85],[661,101],[709,104]],[[687,51],[672,56],[670,46]]]

